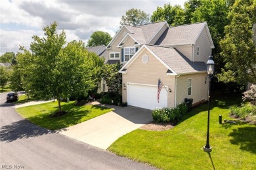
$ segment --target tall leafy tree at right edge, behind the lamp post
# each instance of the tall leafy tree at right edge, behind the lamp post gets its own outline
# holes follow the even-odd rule
[[[236,0],[228,18],[231,23],[225,27],[226,36],[221,41],[221,55],[226,65],[218,78],[223,82],[256,83],[256,48],[252,39],[256,1]],[[230,78],[226,73],[235,78]]]

